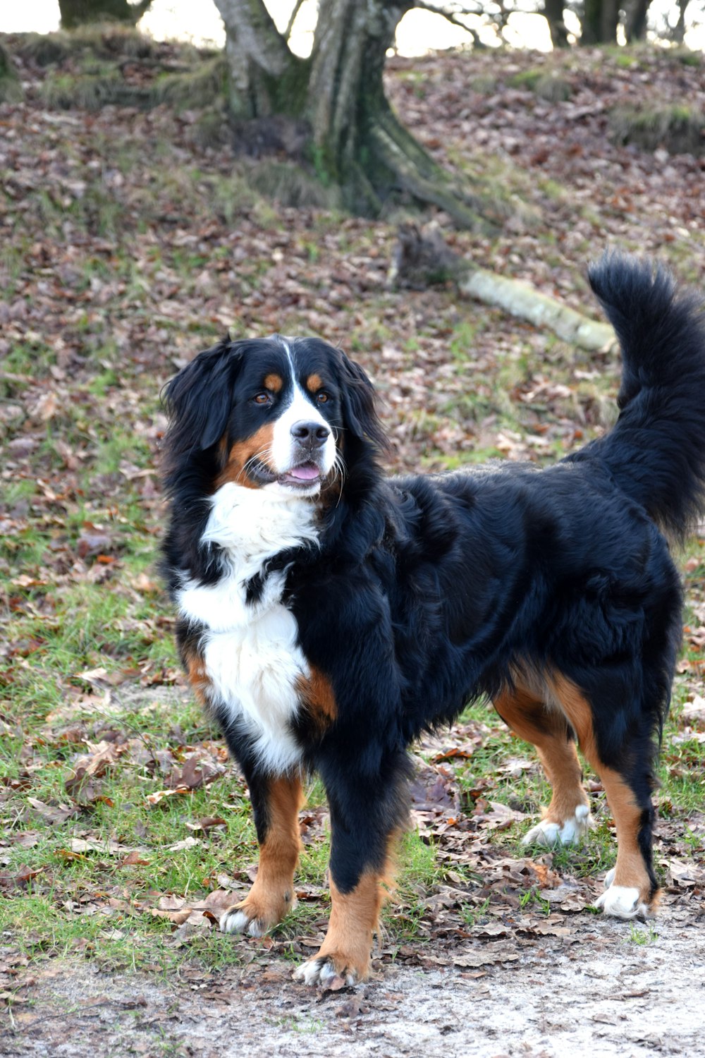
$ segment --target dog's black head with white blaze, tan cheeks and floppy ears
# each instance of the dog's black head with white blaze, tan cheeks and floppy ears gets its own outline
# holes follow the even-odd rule
[[[360,445],[382,446],[363,369],[319,339],[223,341],[168,383],[167,486],[184,463],[248,489],[316,496]]]

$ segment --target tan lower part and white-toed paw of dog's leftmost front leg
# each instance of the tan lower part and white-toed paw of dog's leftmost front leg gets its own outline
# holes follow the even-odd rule
[[[303,802],[298,774],[273,779],[268,790],[270,826],[260,845],[259,868],[244,900],[221,916],[224,933],[261,936],[281,922],[294,904],[294,871],[299,858],[299,808]]]

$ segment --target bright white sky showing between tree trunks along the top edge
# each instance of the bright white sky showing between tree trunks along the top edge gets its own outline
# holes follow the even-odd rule
[[[673,8],[672,0],[654,0],[660,11],[666,15]],[[267,7],[280,29],[284,29],[292,11],[292,0],[266,0]],[[304,0],[296,19],[292,35],[292,47],[301,55],[311,51],[313,28],[316,21],[315,0]],[[469,24],[481,32],[481,20],[468,18]],[[0,0],[0,32],[12,33],[35,30],[49,33],[59,25],[58,0],[24,0],[21,4]],[[223,24],[215,4],[208,0],[153,0],[149,12],[142,19],[141,29],[157,40],[180,37],[197,44],[216,43],[224,40]],[[481,32],[486,43],[496,42],[491,31]],[[551,51],[551,40],[545,20],[540,15],[525,15],[516,12],[509,16],[505,38],[511,44],[522,44],[540,51]],[[402,55],[423,55],[435,49],[453,48],[468,40],[462,30],[450,25],[445,19],[426,11],[411,11],[401,21],[396,34],[397,49]],[[686,35],[690,48],[705,49],[705,31],[693,29]]]

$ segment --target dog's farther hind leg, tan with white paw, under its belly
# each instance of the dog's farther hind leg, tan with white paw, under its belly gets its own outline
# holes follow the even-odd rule
[[[551,804],[541,821],[524,835],[522,843],[577,844],[592,826],[592,817],[582,788],[575,736],[563,713],[534,692],[517,686],[498,695],[494,706],[520,738],[536,746],[552,786]]]

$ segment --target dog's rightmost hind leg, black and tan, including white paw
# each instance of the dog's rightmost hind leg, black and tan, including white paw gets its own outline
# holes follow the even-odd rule
[[[600,750],[599,732],[587,696],[565,676],[551,680],[560,707],[577,733],[581,752],[600,778],[617,832],[617,862],[605,879],[597,907],[618,918],[644,918],[655,911],[658,882],[651,859],[654,810],[652,723],[648,714],[633,716],[620,745]]]

